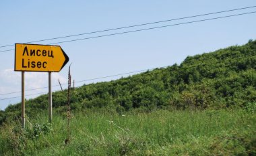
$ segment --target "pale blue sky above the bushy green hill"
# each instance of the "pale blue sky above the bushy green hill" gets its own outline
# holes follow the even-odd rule
[[[255,0],[216,1],[1,1],[0,46],[42,40],[63,35],[86,33],[102,29],[162,21],[203,13],[211,13],[256,5]],[[170,25],[186,21],[256,11],[256,8],[193,19],[170,21],[119,31],[95,33],[63,40],[38,42],[51,44],[95,35],[106,35],[134,29]],[[136,70],[158,68],[181,63],[187,56],[214,52],[232,45],[243,45],[256,39],[256,14],[216,19],[187,25],[177,25],[123,35],[101,37],[59,44],[69,56],[75,81],[98,78]],[[9,50],[13,47],[0,48]],[[21,90],[21,73],[14,72],[14,51],[0,53],[0,94]],[[65,66],[53,74],[53,84],[67,82]],[[127,76],[127,75],[123,75]],[[115,80],[120,76],[88,83]],[[26,72],[26,89],[47,86],[47,73]],[[84,83],[77,83],[80,86]],[[59,90],[59,86],[53,90]],[[26,94],[46,92],[31,90]],[[0,98],[20,96],[21,93],[0,95]],[[27,96],[26,98],[34,98]],[[21,98],[0,100],[0,109],[20,102]]]

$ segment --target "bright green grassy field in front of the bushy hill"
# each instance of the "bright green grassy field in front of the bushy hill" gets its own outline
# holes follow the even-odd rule
[[[245,110],[46,112],[0,130],[0,155],[256,155],[256,115]],[[65,140],[67,143],[65,143]]]

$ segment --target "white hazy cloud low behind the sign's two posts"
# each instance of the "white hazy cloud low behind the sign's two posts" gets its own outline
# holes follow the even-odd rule
[[[5,94],[0,95],[1,98],[9,98],[15,96],[21,96],[21,88],[22,88],[22,72],[15,72],[13,69],[5,69],[0,71],[0,94],[5,94],[9,92],[17,92],[15,94]],[[29,94],[34,94],[32,96],[26,96],[27,99],[34,98],[39,96],[40,92],[48,91],[48,73],[47,72],[25,72],[25,90],[30,90],[33,88],[42,88],[38,90],[30,90],[25,92],[25,96]],[[61,76],[61,74],[57,72],[52,73],[52,85],[59,84],[58,80],[61,84],[67,83],[67,78]],[[63,86],[64,87],[64,86]],[[60,90],[59,86],[56,86],[52,90]],[[0,110],[6,108],[9,103],[20,102],[20,98],[11,98],[7,100],[0,101]]]

